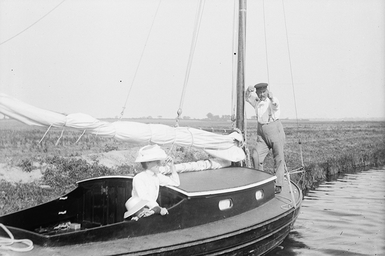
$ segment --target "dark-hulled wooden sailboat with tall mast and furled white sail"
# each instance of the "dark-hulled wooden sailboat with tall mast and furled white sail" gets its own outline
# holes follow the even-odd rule
[[[159,132],[143,139],[160,145],[173,141],[182,146],[203,148],[210,155],[233,164],[180,173],[180,186],[161,187],[158,203],[167,208],[166,216],[155,215],[138,221],[124,219],[125,202],[132,190],[133,176],[130,175],[82,180],[77,182],[78,187],[60,198],[0,216],[0,223],[14,239],[33,242],[29,255],[263,255],[285,239],[299,215],[302,191],[288,178],[281,193],[275,195],[276,177],[246,167],[245,150],[240,143],[245,136],[245,8],[246,1],[239,1],[236,124],[241,133],[216,135],[188,129],[194,139],[178,140],[183,137],[179,132],[186,133],[183,127],[171,129],[155,125]],[[138,131],[155,130],[154,126],[148,128],[144,124],[109,124],[83,114],[62,115],[34,109],[6,95],[0,96],[0,112],[31,125],[63,126],[65,123],[98,136],[130,142],[142,141],[143,134]],[[138,125],[141,128],[138,129]],[[127,127],[131,127],[130,132]],[[164,134],[171,137],[158,138]],[[62,223],[72,226],[61,229]],[[0,229],[0,236],[7,235]]]

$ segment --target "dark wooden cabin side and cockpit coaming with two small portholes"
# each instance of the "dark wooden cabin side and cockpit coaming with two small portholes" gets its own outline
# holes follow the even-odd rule
[[[113,178],[113,177],[109,177],[109,178]],[[92,180],[91,179],[88,182],[82,183],[82,185],[80,185],[76,189],[85,189],[85,187],[87,186],[93,187],[94,184],[107,185],[108,183],[106,182],[115,183],[117,181],[119,181],[119,178],[117,178],[116,180],[111,180],[111,179]],[[255,191],[260,189],[264,190],[267,196],[263,197],[261,200],[258,201],[255,199]],[[161,194],[164,194],[164,193],[167,194],[167,190],[172,190],[172,189],[169,187],[162,187],[161,191],[163,192]],[[174,191],[172,192],[174,194],[179,194],[175,190],[172,190],[172,191]],[[145,222],[142,222],[142,221],[139,221],[138,223],[132,222],[132,221],[124,222],[124,223],[118,222],[118,223],[107,224],[102,226],[89,227],[89,228],[85,228],[77,231],[71,231],[71,232],[66,231],[64,233],[49,234],[48,236],[33,232],[32,231],[33,228],[30,228],[29,229],[30,231],[28,231],[26,229],[23,229],[22,226],[20,226],[19,228],[14,229],[14,232],[15,232],[14,235],[15,235],[15,238],[17,239],[22,239],[22,238],[31,239],[32,241],[35,241],[35,243],[40,245],[65,246],[69,244],[83,244],[83,243],[90,243],[90,242],[97,242],[97,241],[106,241],[108,239],[117,240],[117,239],[125,238],[127,236],[140,237],[148,234],[148,232],[147,233],[143,231],[137,232],[134,230],[139,230],[139,231],[152,230],[150,233],[153,234],[156,232],[165,232],[165,231],[190,228],[197,225],[204,225],[210,222],[222,220],[223,218],[230,218],[230,217],[239,215],[242,212],[259,207],[261,204],[264,204],[269,200],[271,200],[272,198],[274,198],[274,183],[273,181],[270,181],[259,187],[247,188],[241,191],[234,191],[232,193],[222,193],[222,194],[216,194],[211,196],[196,196],[191,198],[184,196],[181,198],[184,198],[184,199],[182,199],[179,203],[169,208],[169,212],[170,212],[169,216],[166,216],[166,217],[153,216],[151,217],[151,219],[148,219]],[[229,198],[234,200],[234,206],[235,206],[234,209],[231,208],[229,210],[221,211],[218,207],[218,202],[220,200],[225,200]],[[68,196],[68,199],[66,199],[65,201],[67,200],[70,201],[71,197]],[[249,201],[249,200],[252,200],[252,201]],[[54,201],[61,201],[61,200],[54,200]],[[182,203],[182,201],[184,201],[184,203]],[[124,203],[122,205],[124,205]],[[34,212],[36,213],[37,208],[32,207],[31,210],[34,210]],[[26,215],[27,209],[23,211],[26,211],[24,214]],[[53,212],[55,212],[55,210],[53,210]],[[184,216],[189,216],[189,217],[184,218]],[[73,219],[76,217],[73,216],[71,218]],[[72,222],[72,219],[71,219],[71,222]],[[178,220],[178,221],[176,222],[175,220]],[[140,224],[140,222],[142,224]],[[82,222],[79,222],[79,223],[82,223]],[[140,225],[137,225],[137,224],[140,224]],[[39,225],[37,225],[37,227]],[[17,225],[10,225],[10,226],[18,227]],[[82,227],[83,227],[83,224],[82,224]],[[84,227],[87,227],[87,226],[84,226]],[[105,235],[100,236],[99,233],[104,233]]]

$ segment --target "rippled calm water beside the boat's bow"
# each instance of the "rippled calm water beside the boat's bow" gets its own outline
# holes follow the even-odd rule
[[[273,255],[385,255],[385,167],[340,175],[310,191]]]

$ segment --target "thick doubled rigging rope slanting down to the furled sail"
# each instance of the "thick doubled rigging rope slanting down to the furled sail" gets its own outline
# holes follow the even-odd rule
[[[196,15],[195,15],[194,32],[193,32],[192,40],[191,40],[190,55],[188,57],[188,63],[187,63],[186,74],[185,74],[185,77],[184,77],[181,101],[179,103],[179,109],[177,111],[177,114],[178,114],[177,123],[176,123],[175,126],[179,126],[179,119],[180,119],[180,117],[182,115],[183,100],[184,100],[184,95],[186,93],[188,77],[190,75],[192,57],[194,56],[195,46],[197,45],[197,38],[198,38],[199,27],[200,27],[201,19],[202,19],[204,3],[205,3],[204,0],[200,0],[199,3],[198,3],[198,6],[197,6],[197,12],[196,12]]]

